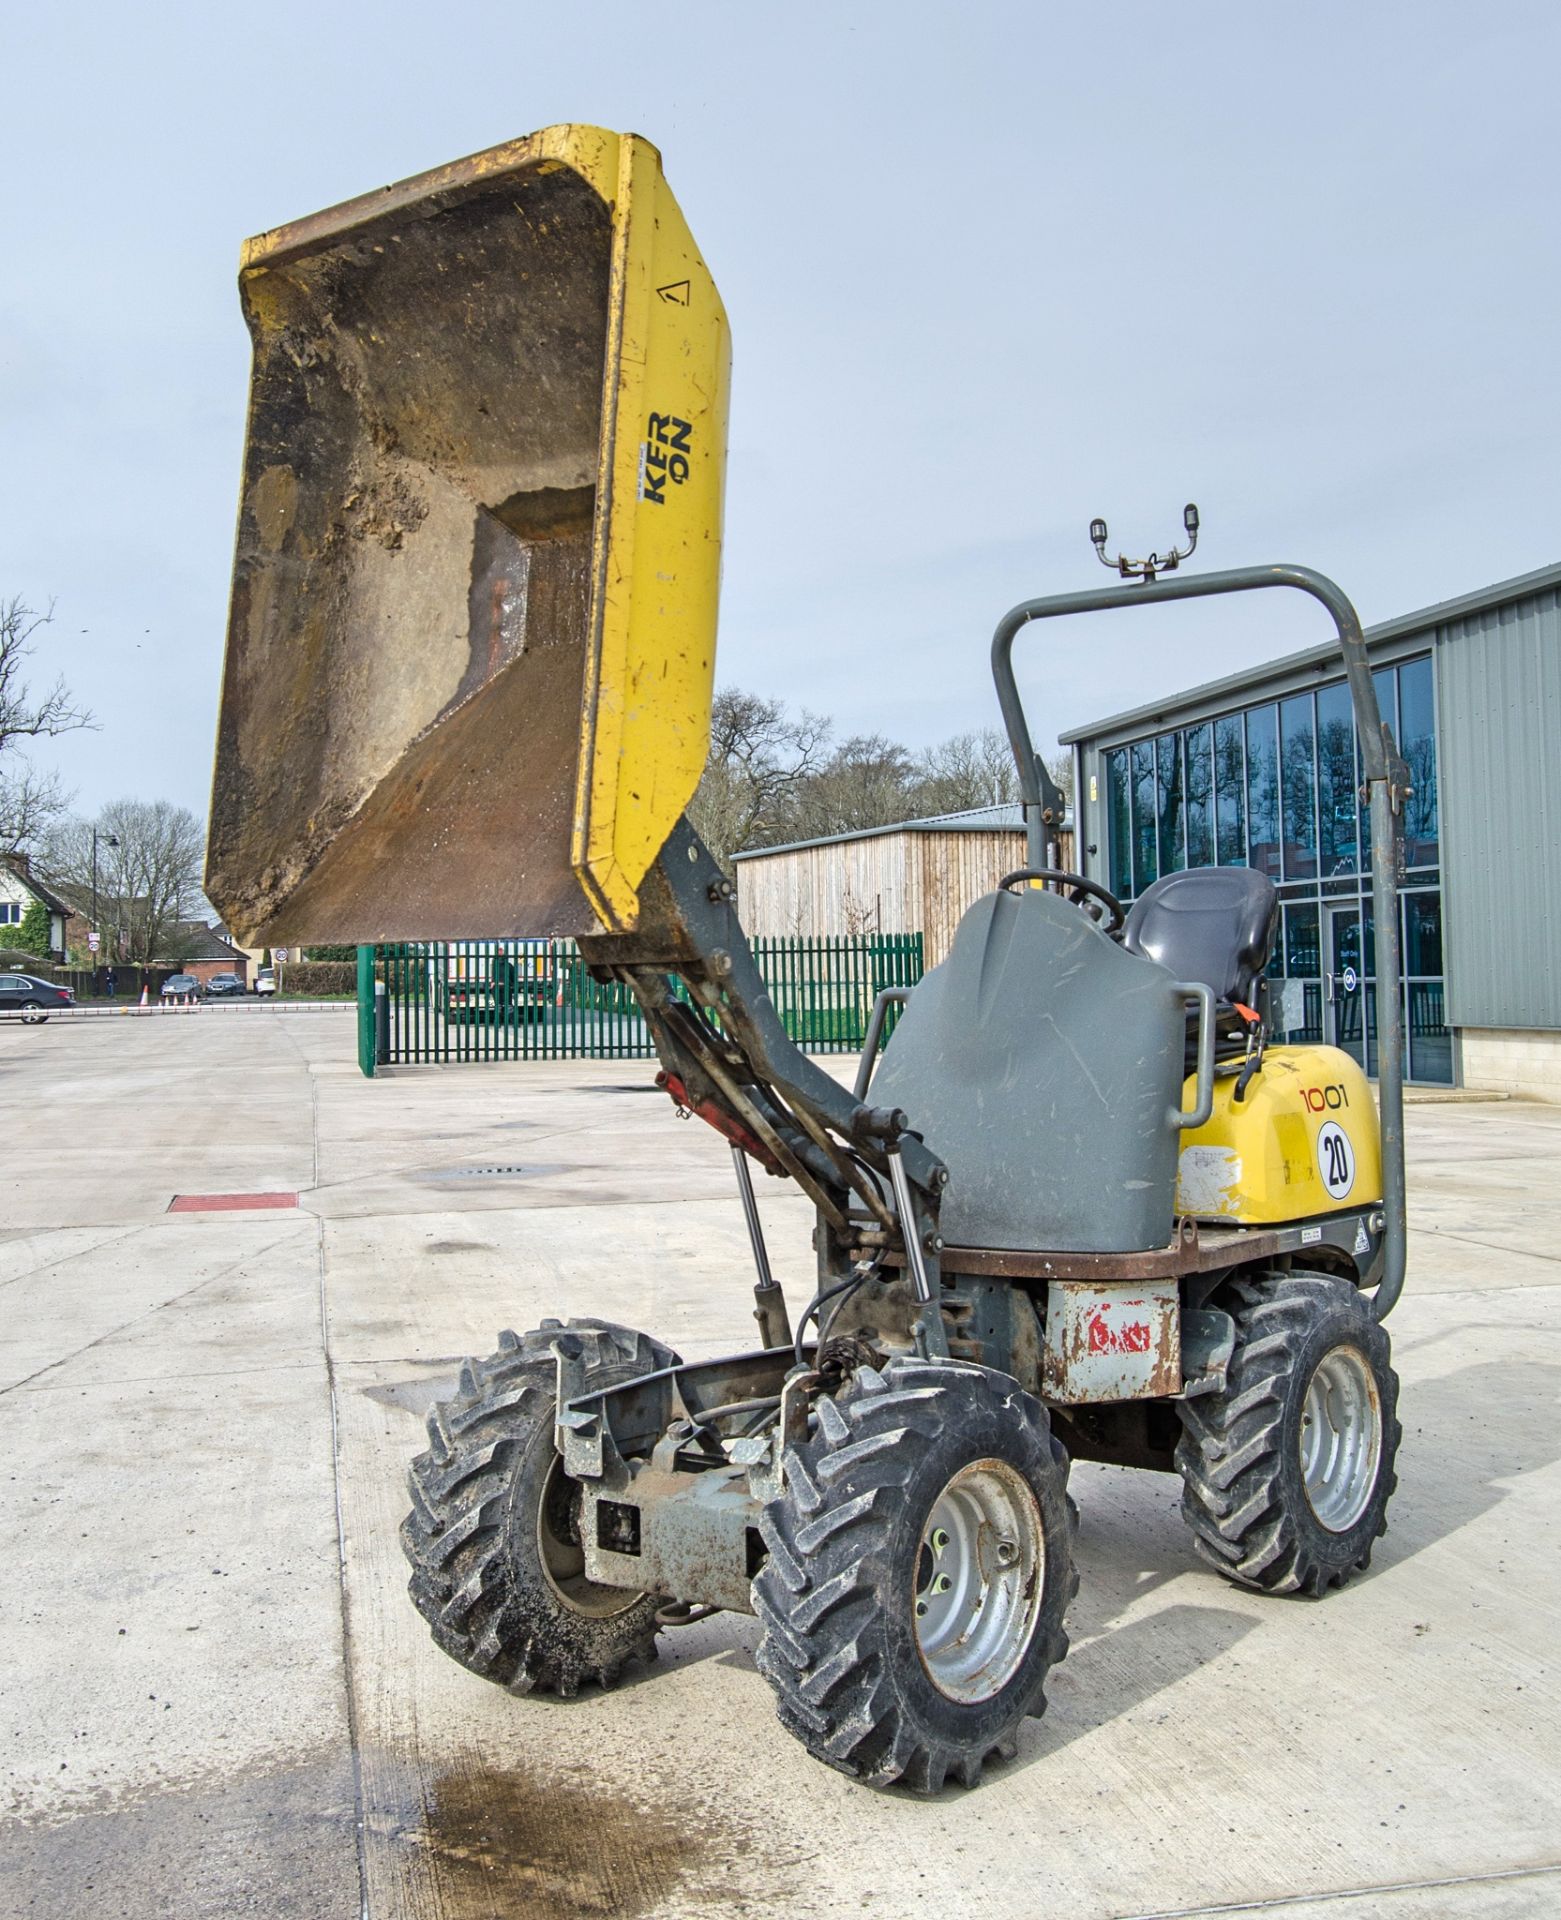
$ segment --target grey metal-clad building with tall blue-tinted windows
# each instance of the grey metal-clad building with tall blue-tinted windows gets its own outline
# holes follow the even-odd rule
[[[1409,1079],[1561,1098],[1561,564],[1371,628],[1409,762]],[[1066,733],[1085,872],[1123,899],[1183,866],[1271,876],[1292,1039],[1375,1071],[1369,829],[1336,645]]]

